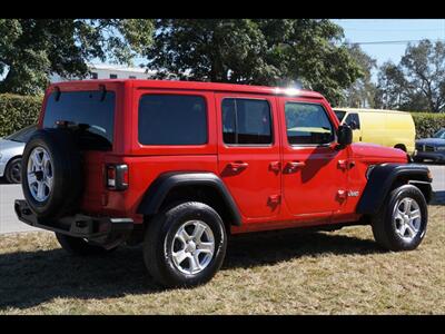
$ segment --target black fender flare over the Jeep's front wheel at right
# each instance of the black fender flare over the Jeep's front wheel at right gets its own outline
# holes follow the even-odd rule
[[[357,204],[358,214],[376,214],[389,193],[396,179],[404,178],[409,184],[418,186],[428,202],[432,197],[432,178],[426,166],[416,164],[383,164],[377,165],[368,175],[368,181]]]

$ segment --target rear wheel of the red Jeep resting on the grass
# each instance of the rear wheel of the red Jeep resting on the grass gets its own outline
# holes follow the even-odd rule
[[[190,287],[210,281],[226,255],[227,236],[216,210],[188,202],[152,219],[144,240],[149,274],[166,287]]]

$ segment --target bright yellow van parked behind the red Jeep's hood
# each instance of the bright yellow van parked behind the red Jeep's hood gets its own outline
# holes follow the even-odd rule
[[[409,112],[384,109],[334,108],[342,124],[352,127],[353,141],[373,143],[414,154],[416,129]]]

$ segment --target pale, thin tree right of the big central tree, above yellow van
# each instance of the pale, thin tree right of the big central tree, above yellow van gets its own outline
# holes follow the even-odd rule
[[[363,77],[346,89],[345,106],[353,108],[374,108],[376,85],[372,80],[373,70],[377,68],[375,59],[365,53],[358,45],[348,47],[350,57],[360,67]]]

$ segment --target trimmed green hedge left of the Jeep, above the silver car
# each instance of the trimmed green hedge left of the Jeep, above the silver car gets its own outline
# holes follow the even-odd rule
[[[42,97],[0,94],[0,137],[36,124]]]

